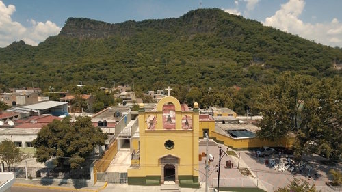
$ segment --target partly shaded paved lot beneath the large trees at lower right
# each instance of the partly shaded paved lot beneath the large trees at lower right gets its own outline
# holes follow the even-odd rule
[[[285,187],[293,178],[299,178],[307,180],[309,183],[315,183],[316,186],[324,186],[326,182],[329,182],[329,170],[330,169],[342,169],[341,163],[334,163],[334,165],[324,165],[326,159],[318,155],[306,155],[303,156],[303,165],[301,171],[299,169],[290,172],[287,169],[285,172],[279,172],[278,169],[272,167],[271,163],[266,164],[265,161],[270,162],[270,159],[278,158],[278,154],[270,156],[258,157],[253,155],[251,151],[241,151],[241,159],[244,160],[246,165],[250,167],[250,170],[254,172],[257,178],[266,185],[272,184],[273,189],[278,187]],[[285,161],[285,156],[280,158]],[[301,164],[301,163],[296,163]],[[306,165],[308,168],[306,168]],[[331,178],[330,178],[331,179]],[[270,187],[267,187],[270,188]]]

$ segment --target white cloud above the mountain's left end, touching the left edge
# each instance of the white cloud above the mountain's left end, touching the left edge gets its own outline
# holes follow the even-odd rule
[[[31,27],[24,27],[21,23],[12,20],[16,11],[14,5],[6,6],[0,1],[0,47],[8,46],[14,41],[24,40],[26,44],[38,45],[49,36],[57,35],[61,28],[47,20],[45,23],[31,19]]]

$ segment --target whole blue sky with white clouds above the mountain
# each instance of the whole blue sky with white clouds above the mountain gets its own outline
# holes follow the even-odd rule
[[[0,47],[38,45],[60,33],[68,17],[108,23],[178,18],[198,8],[220,8],[317,43],[342,47],[342,0],[0,0]]]

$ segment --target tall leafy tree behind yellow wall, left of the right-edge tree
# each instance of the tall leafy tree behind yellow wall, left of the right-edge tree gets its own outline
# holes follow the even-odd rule
[[[263,114],[259,137],[277,141],[290,131],[299,128],[300,107],[306,98],[306,89],[311,81],[306,77],[289,72],[278,77],[276,84],[264,87],[258,98],[257,107]]]

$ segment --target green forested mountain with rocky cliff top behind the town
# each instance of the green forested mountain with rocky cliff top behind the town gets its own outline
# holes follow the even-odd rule
[[[146,91],[156,85],[259,87],[291,71],[341,75],[342,49],[264,27],[220,9],[179,18],[109,24],[68,18],[57,36],[38,46],[14,42],[0,49],[0,88],[114,81]]]

